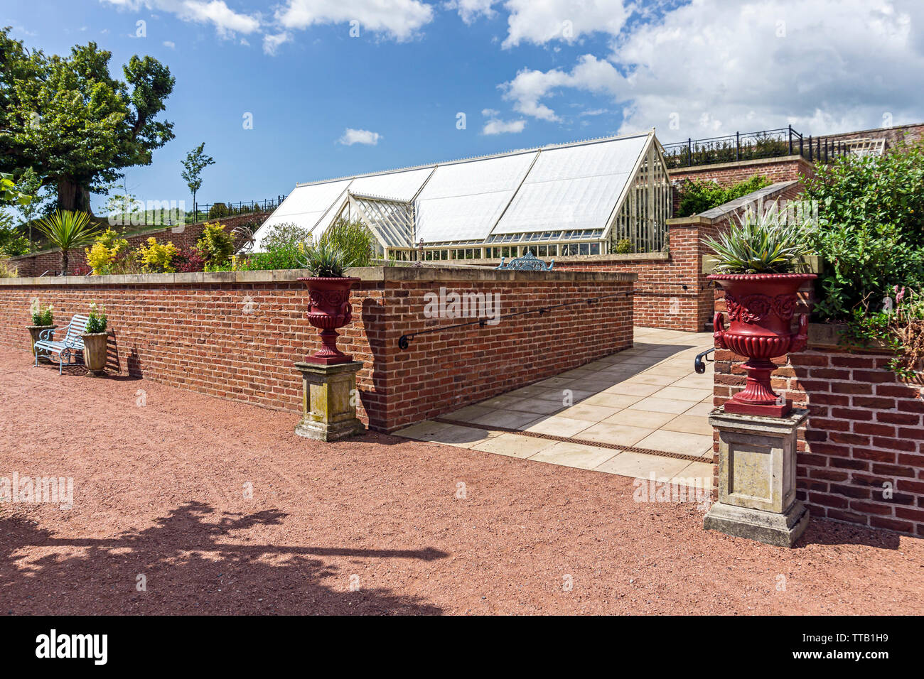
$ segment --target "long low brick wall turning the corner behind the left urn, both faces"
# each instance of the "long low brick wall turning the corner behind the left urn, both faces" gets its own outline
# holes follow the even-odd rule
[[[632,344],[631,280],[589,273],[441,272],[397,270],[389,280],[356,285],[354,320],[340,331],[339,346],[365,363],[358,377],[359,416],[373,429],[395,430]],[[251,272],[258,273],[267,274]],[[25,326],[33,297],[55,305],[59,324],[96,301],[104,305],[116,333],[123,372],[298,412],[301,378],[293,363],[320,347],[318,331],[305,318],[304,285],[291,280],[291,274],[289,280],[280,280],[286,278],[280,272],[269,274],[276,280],[234,282],[236,274],[226,273],[204,276],[227,283],[153,282],[172,278],[162,274],[141,277],[144,285],[97,283],[125,276],[79,285],[0,285],[0,342],[21,349],[24,361],[31,359],[25,353]],[[176,280],[196,276],[204,278],[177,274]],[[407,276],[422,280],[403,280]],[[422,295],[438,292],[441,285],[499,293],[505,314],[587,297],[618,297],[525,314],[483,329],[476,325],[419,335],[401,351],[403,333],[465,321],[424,318]]]

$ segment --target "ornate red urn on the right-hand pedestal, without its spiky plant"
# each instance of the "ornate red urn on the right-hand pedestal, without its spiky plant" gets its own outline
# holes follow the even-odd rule
[[[771,358],[801,351],[808,340],[808,314],[799,314],[798,332],[793,316],[799,287],[816,278],[814,273],[713,273],[709,276],[725,290],[725,309],[712,321],[715,346],[748,357],[742,368],[748,372],[745,389],[725,403],[726,413],[784,418],[792,402],[773,393],[770,375],[776,370]]]

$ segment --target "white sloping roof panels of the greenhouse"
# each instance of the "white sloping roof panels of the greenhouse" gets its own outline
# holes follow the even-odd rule
[[[395,242],[396,231],[380,235],[392,247],[416,247],[421,238],[435,243],[602,231],[653,139],[653,132],[593,139],[300,184],[257,231],[256,248],[273,224],[293,222],[320,235],[350,196],[412,205],[412,228],[400,236],[412,236],[407,243]]]

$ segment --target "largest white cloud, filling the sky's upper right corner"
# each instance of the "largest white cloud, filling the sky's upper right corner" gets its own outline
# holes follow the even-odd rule
[[[886,114],[918,122],[924,3],[693,0],[614,39],[607,58],[524,68],[500,88],[519,113],[550,121],[560,120],[556,94],[602,95],[622,110],[621,132],[654,126],[664,141],[788,124],[807,134],[881,127]]]

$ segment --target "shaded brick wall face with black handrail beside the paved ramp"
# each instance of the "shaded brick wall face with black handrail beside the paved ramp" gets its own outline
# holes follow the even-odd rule
[[[403,394],[389,399],[389,422],[405,425],[435,417],[632,346],[631,281],[554,282],[543,277],[539,273],[529,282],[492,285],[490,290],[501,295],[501,312],[579,303],[484,328],[418,335],[407,351],[392,350],[401,334],[453,322],[427,319],[422,313],[423,296],[446,284],[414,281],[389,290],[386,374],[389,393]],[[589,297],[601,300],[587,304],[583,300]]]

